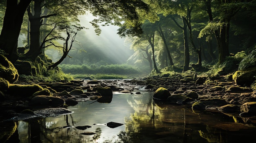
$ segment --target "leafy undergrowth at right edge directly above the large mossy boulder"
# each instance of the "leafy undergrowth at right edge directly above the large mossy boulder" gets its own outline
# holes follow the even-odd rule
[[[246,54],[245,54],[246,55]],[[242,59],[239,63],[238,70],[245,68],[251,68],[256,65],[256,49],[254,49],[249,55]]]

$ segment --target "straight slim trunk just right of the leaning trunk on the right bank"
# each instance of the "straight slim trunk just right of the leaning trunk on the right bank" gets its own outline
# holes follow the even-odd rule
[[[187,24],[185,21],[185,18],[182,17],[183,21],[183,39],[184,39],[184,65],[183,65],[183,71],[189,70],[189,42],[188,42],[188,36],[187,36]]]

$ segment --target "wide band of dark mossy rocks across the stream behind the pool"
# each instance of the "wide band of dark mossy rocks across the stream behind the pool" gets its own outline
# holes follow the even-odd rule
[[[254,120],[256,115],[256,93],[251,88],[237,86],[226,77],[200,77],[195,75],[164,75],[140,79],[89,80],[76,79],[60,82],[22,81],[11,84],[1,102],[0,119],[10,120],[13,117],[31,117],[42,115],[42,109],[65,109],[79,101],[97,100],[108,102],[112,92],[128,92],[145,88],[154,93],[157,104],[188,105],[195,112],[205,110],[223,112],[230,116],[248,117]],[[161,90],[161,91],[159,91]],[[163,92],[164,91],[164,92]],[[166,92],[167,91],[167,92]],[[158,92],[158,93],[157,93]],[[159,93],[164,93],[160,94]],[[139,93],[138,93],[139,94]],[[104,97],[104,98],[103,98]],[[106,98],[108,97],[108,98]],[[53,114],[51,110],[51,114]],[[62,111],[61,114],[70,114]],[[22,119],[22,118],[21,118]]]

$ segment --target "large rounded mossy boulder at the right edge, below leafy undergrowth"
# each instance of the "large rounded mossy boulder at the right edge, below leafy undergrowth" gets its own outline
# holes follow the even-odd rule
[[[240,86],[251,86],[255,81],[256,67],[238,70],[234,73],[233,80]]]

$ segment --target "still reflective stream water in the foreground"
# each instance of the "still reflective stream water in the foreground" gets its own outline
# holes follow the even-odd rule
[[[254,143],[256,128],[243,119],[159,105],[146,90],[132,93],[114,92],[107,103],[79,101],[68,107],[72,114],[18,121],[17,138],[20,143]],[[121,124],[110,128],[109,122]]]

